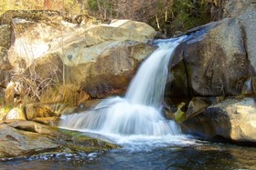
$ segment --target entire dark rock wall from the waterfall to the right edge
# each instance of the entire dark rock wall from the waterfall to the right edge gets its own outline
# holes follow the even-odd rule
[[[253,95],[255,16],[256,12],[249,12],[194,29],[205,33],[177,48],[170,65],[172,81],[167,84],[165,94]]]

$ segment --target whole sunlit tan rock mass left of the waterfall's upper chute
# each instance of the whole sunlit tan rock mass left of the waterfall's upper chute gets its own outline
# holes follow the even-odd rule
[[[10,38],[0,44],[6,51],[0,65],[25,89],[33,89],[27,93],[37,100],[38,89],[60,84],[79,86],[91,97],[123,93],[155,49],[147,44],[155,37],[154,28],[135,21],[101,24],[85,17],[74,23],[48,11],[8,11],[0,20],[5,36],[13,37],[12,45]]]

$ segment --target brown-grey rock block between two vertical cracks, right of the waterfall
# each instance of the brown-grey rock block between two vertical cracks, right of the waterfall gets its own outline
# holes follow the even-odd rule
[[[187,42],[185,63],[192,95],[239,95],[250,64],[237,19],[225,19],[199,41]]]

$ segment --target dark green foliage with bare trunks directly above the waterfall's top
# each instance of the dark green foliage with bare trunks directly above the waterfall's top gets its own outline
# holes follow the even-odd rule
[[[185,32],[210,22],[211,6],[207,0],[159,0],[148,24],[165,35]]]

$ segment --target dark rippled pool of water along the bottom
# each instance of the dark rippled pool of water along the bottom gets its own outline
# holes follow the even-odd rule
[[[256,169],[256,147],[197,141],[143,151],[41,155],[0,162],[0,169]]]

